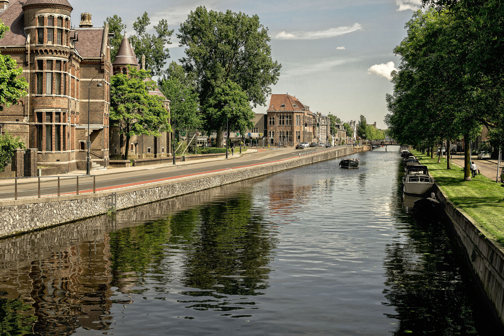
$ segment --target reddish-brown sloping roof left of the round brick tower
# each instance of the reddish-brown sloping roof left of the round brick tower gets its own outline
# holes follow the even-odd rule
[[[28,0],[30,1],[30,0]],[[5,33],[3,39],[0,40],[0,45],[24,45],[26,42],[25,32],[23,31],[24,13],[21,8],[23,3],[19,0],[11,0],[9,7],[0,13],[2,22],[10,28]]]

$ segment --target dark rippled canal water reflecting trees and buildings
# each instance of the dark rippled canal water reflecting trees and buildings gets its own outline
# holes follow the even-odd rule
[[[500,334],[391,149],[1,240],[0,334]]]

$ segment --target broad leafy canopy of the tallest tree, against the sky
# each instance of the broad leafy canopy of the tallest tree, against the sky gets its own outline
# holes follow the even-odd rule
[[[254,107],[266,105],[281,65],[271,58],[268,28],[257,15],[208,11],[200,6],[180,24],[177,37],[180,46],[187,46],[180,61],[187,73],[195,74],[205,105],[228,81],[237,84]]]

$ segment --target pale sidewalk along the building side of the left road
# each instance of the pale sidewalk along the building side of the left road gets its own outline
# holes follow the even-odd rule
[[[273,148],[272,148],[273,149]],[[187,166],[187,165],[192,165],[192,164],[198,164],[198,163],[209,163],[208,166],[211,166],[210,163],[214,161],[225,161],[225,160],[230,160],[230,159],[237,159],[240,158],[241,156],[245,154],[251,154],[251,153],[258,153],[258,152],[266,152],[271,149],[250,149],[247,148],[246,152],[242,152],[241,155],[239,153],[235,152],[234,155],[229,154],[228,159],[226,159],[224,156],[226,155],[223,153],[222,158],[211,158],[211,159],[201,159],[201,160],[193,160],[193,161],[177,161],[176,162],[176,167],[178,166]],[[109,167],[107,169],[103,170],[91,170],[91,175],[96,175],[96,176],[102,176],[102,175],[110,175],[110,174],[121,174],[121,173],[131,173],[131,172],[137,172],[137,171],[143,171],[143,170],[153,170],[153,169],[158,169],[158,168],[164,168],[164,167],[172,167],[174,166],[172,161],[169,161],[170,163],[161,163],[161,164],[154,164],[154,165],[148,165],[148,166],[130,166],[130,167],[120,167],[120,168],[113,168]],[[57,175],[59,177],[75,177],[75,176],[88,176],[86,174],[85,170],[74,170],[72,172],[69,172],[67,174],[61,174]],[[44,178],[44,181],[55,181],[57,180],[57,176],[54,177],[45,177],[41,176]],[[13,184],[13,178],[5,178],[5,179],[0,179],[0,185],[9,185]],[[23,184],[23,183],[32,183],[38,181],[38,177],[28,177],[28,178],[23,178],[21,180],[18,179],[18,184]]]

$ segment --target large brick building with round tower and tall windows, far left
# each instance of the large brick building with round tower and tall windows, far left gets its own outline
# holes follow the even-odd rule
[[[0,111],[3,131],[36,148],[38,166],[59,173],[86,169],[88,94],[91,159],[106,167],[109,157],[108,25],[94,28],[83,13],[72,28],[72,10],[67,0],[0,1],[0,19],[10,28],[0,52],[16,60],[29,83],[27,97]]]

